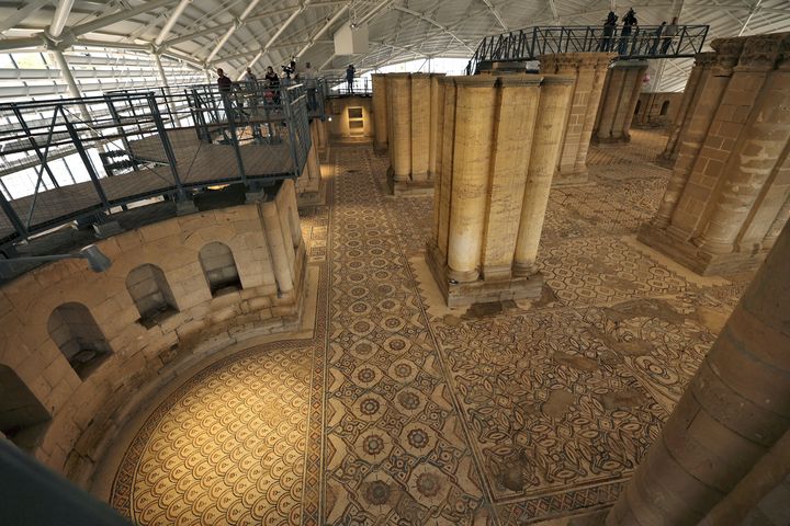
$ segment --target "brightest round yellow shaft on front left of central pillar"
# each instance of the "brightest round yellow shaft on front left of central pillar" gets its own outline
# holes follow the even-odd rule
[[[458,77],[448,277],[459,283],[479,276],[496,103],[496,78]]]

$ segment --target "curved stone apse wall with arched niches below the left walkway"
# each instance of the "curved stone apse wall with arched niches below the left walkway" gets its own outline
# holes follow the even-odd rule
[[[104,273],[65,260],[0,288],[0,370],[7,373],[0,376],[22,384],[9,391],[3,381],[0,393],[33,397],[0,404],[1,431],[78,482],[146,385],[235,341],[295,327],[304,289],[305,247],[292,181],[264,202],[167,219],[95,244],[112,261]],[[219,244],[230,254],[221,254]],[[221,263],[222,275],[235,272],[239,286],[212,295],[200,255],[206,247],[213,247],[208,258]],[[145,265],[161,271],[157,286],[165,279],[174,304],[154,323],[140,322],[132,296],[151,281],[147,271],[136,271]],[[75,334],[83,341],[70,348]],[[72,355],[70,363],[64,351],[84,353],[82,362]],[[41,408],[49,420],[33,425],[43,420]],[[9,420],[11,411],[22,416]]]

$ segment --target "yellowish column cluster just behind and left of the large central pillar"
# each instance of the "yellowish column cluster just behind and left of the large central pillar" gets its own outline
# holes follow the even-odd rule
[[[431,123],[439,110],[437,96],[442,77],[443,73],[373,76],[374,147],[390,152],[387,181],[394,195],[433,191],[438,136]]]

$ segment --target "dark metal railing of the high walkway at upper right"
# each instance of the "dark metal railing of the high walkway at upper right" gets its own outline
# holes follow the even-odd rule
[[[618,59],[693,57],[702,50],[707,25],[537,26],[486,36],[466,66],[475,75],[482,62],[535,60],[550,53],[616,53]]]

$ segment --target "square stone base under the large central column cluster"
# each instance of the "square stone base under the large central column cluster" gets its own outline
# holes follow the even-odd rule
[[[450,283],[447,264],[439,248],[428,242],[426,263],[439,285],[448,307],[472,304],[539,298],[543,290],[543,275],[535,273],[524,277],[505,279],[477,279],[471,283]]]

